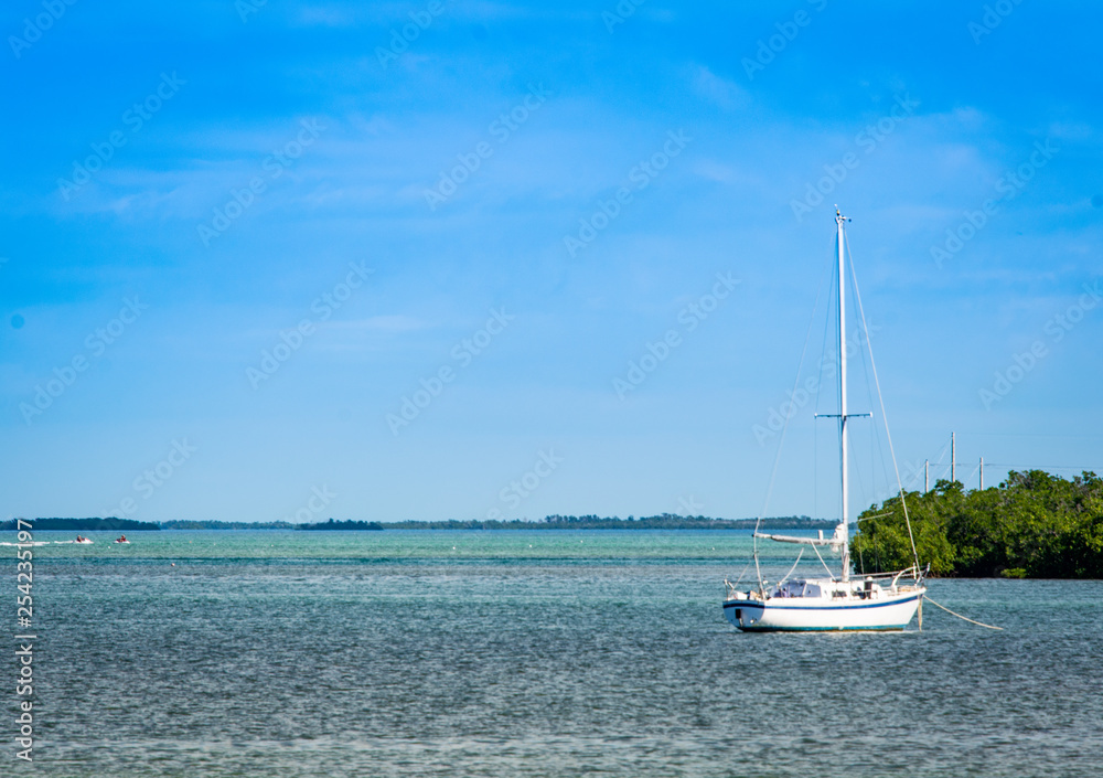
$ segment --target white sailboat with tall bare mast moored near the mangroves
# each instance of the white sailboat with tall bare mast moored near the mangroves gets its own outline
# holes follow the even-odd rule
[[[923,585],[925,571],[919,566],[919,555],[912,541],[914,565],[893,573],[875,575],[850,575],[849,519],[847,515],[847,420],[855,416],[846,406],[846,234],[847,222],[838,210],[835,211],[836,247],[838,259],[838,414],[829,414],[838,419],[839,480],[842,489],[842,515],[835,532],[825,537],[821,530],[817,537],[793,537],[774,535],[754,530],[754,567],[759,571],[758,587],[740,590],[737,585],[725,580],[726,597],[724,615],[732,625],[745,632],[774,631],[846,631],[846,630],[902,630],[920,610],[927,587]],[[860,306],[860,300],[859,300]],[[868,339],[866,339],[868,343]],[[870,353],[870,363],[872,354]],[[884,408],[884,406],[882,406]],[[891,440],[890,440],[891,449]],[[899,479],[898,479],[899,480]],[[903,489],[900,489],[903,499]],[[904,505],[907,519],[907,505]],[[761,523],[761,521],[759,522]],[[911,535],[911,525],[908,524]],[[820,578],[790,578],[778,583],[764,580],[759,566],[759,540],[778,543],[794,543],[811,546],[820,555],[820,547],[829,547],[842,555],[842,571],[835,575],[824,563],[828,576]],[[802,552],[803,553],[803,552]],[[797,563],[800,556],[797,556]],[[793,565],[793,569],[796,565]],[[790,575],[792,571],[790,571]]]

